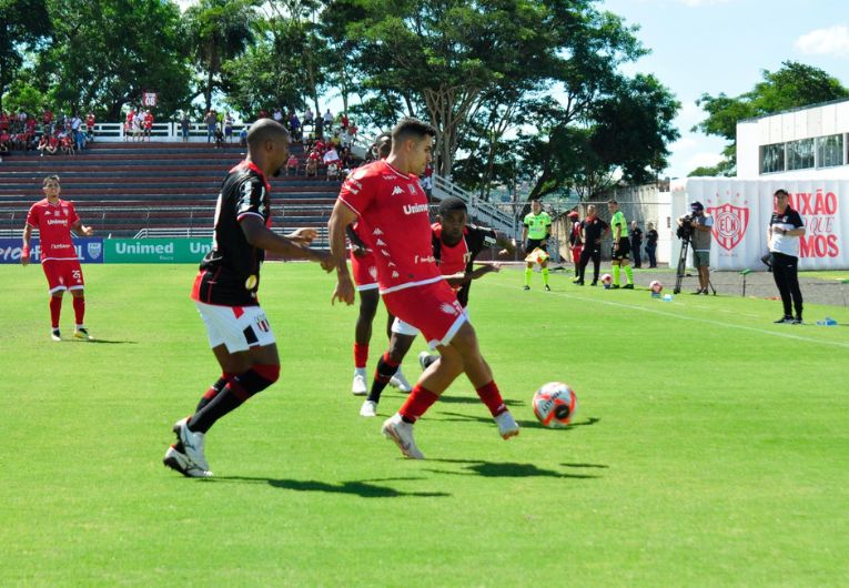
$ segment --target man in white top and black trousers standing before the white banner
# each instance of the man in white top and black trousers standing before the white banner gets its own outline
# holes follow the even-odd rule
[[[799,237],[805,234],[805,223],[799,213],[790,207],[786,190],[775,193],[776,210],[769,219],[767,240],[772,262],[772,277],[781,294],[785,315],[776,323],[801,324],[802,298],[799,288]],[[796,316],[791,311],[796,310]]]

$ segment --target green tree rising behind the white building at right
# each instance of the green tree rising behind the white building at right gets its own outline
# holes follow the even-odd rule
[[[704,93],[696,101],[708,116],[694,126],[693,132],[701,131],[728,141],[722,149],[725,161],[716,166],[722,175],[730,175],[736,170],[738,121],[849,97],[849,89],[837,78],[796,61],[782,62],[776,72],[764,70],[762,78],[755,88],[739,97]]]

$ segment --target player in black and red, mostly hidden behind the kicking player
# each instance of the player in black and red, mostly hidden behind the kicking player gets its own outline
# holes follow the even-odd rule
[[[468,291],[472,281],[483,277],[491,272],[501,270],[498,264],[485,264],[474,268],[475,258],[487,247],[502,247],[501,254],[513,254],[516,244],[506,235],[494,231],[468,224],[468,211],[466,203],[458,197],[449,196],[439,202],[437,222],[431,225],[433,255],[436,265],[445,276],[448,285],[457,294],[457,301],[466,308],[468,306]],[[404,361],[413,342],[418,335],[418,330],[401,320],[395,320],[392,325],[390,348],[383,354],[374,373],[372,388],[368,397],[360,408],[361,416],[377,416],[377,403],[387,382],[393,377],[393,372]],[[422,369],[438,359],[438,355],[422,352],[418,363]]]

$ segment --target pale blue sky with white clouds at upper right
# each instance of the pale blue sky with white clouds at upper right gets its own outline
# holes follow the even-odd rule
[[[722,140],[689,132],[705,118],[695,104],[703,93],[739,95],[762,70],[788,60],[849,87],[847,0],[604,0],[598,7],[638,24],[637,37],[651,50],[625,71],[654,73],[681,102],[681,138],[670,146],[666,171],[673,178],[719,160]]]

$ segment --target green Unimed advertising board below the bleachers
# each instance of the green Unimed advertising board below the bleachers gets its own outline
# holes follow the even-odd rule
[[[200,263],[212,250],[210,239],[108,239],[104,263]]]

